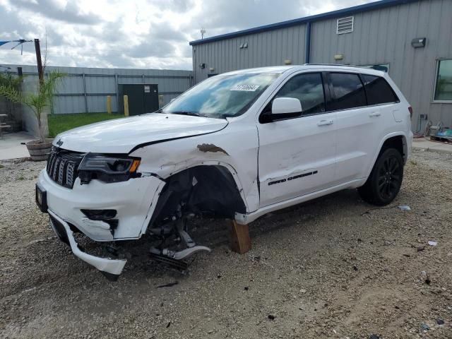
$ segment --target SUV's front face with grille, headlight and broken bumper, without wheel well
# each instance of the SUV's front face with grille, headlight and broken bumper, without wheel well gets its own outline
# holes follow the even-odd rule
[[[99,249],[139,239],[146,230],[162,179],[137,171],[139,158],[79,153],[52,148],[36,185],[36,202],[49,213],[57,236],[73,254],[107,278],[121,274],[126,259],[107,253],[88,254],[76,239],[83,234]],[[149,218],[148,218],[149,215]]]

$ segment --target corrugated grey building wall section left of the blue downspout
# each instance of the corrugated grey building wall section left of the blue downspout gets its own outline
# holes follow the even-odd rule
[[[304,63],[304,25],[259,32],[193,47],[194,77],[196,83],[208,74],[225,73],[236,69]],[[247,43],[247,48],[240,48]],[[200,64],[206,64],[201,69]],[[213,68],[213,71],[210,71]]]

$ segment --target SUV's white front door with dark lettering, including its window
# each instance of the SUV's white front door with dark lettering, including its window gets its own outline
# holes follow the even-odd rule
[[[275,97],[299,99],[302,116],[258,122],[261,207],[333,186],[335,112],[328,112],[326,90],[321,73],[295,75]]]

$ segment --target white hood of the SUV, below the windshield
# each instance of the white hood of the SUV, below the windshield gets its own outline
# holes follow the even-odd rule
[[[107,120],[60,133],[55,146],[92,153],[130,153],[141,145],[220,131],[225,119],[150,113]]]

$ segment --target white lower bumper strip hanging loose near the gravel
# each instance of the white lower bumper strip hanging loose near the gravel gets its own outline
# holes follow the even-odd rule
[[[81,258],[81,260],[93,265],[102,273],[107,273],[107,278],[116,280],[117,276],[121,274],[124,266],[126,265],[126,259],[112,259],[112,258],[101,258],[99,256],[93,256],[91,254],[82,251],[73,236],[71,227],[63,219],[59,218],[58,215],[48,210],[50,218],[50,225],[54,230],[55,234],[61,239],[62,242],[66,242],[71,247],[72,253]]]

